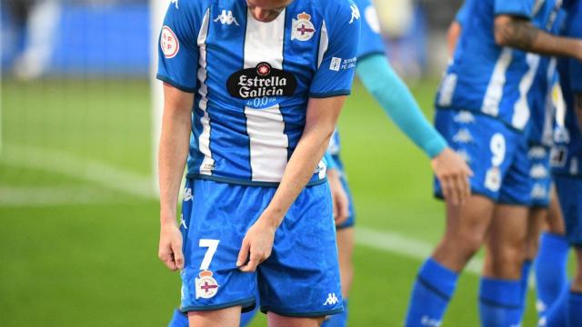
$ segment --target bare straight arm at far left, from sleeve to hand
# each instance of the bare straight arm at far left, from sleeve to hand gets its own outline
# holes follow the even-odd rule
[[[193,102],[194,94],[164,84],[164,116],[158,153],[160,186],[158,255],[173,271],[184,267],[182,234],[176,223],[176,203],[186,166]]]

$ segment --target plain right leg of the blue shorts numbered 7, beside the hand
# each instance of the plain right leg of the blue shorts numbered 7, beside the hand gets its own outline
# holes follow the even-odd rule
[[[336,228],[327,183],[307,187],[275,236],[273,253],[258,267],[261,311],[319,317],[343,311]]]

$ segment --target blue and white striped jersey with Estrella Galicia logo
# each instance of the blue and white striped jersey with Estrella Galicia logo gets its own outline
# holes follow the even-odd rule
[[[157,77],[195,93],[188,177],[276,186],[308,99],[350,93],[359,20],[351,0],[295,0],[269,23],[246,0],[173,1]]]

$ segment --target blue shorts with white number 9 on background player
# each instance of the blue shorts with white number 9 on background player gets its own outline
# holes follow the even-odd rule
[[[494,117],[468,111],[437,110],[437,131],[473,170],[471,191],[496,203],[530,205],[527,140]],[[443,197],[435,178],[435,195]]]

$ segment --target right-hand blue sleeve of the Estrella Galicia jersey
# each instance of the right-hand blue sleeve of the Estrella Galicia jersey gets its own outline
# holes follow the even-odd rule
[[[327,10],[322,25],[317,71],[309,96],[325,98],[350,94],[356,72],[360,13],[351,1]]]

